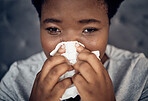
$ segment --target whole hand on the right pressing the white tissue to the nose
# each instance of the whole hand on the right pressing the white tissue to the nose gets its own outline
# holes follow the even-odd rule
[[[77,46],[79,55],[73,66],[79,74],[72,77],[82,101],[115,101],[113,85],[108,72],[95,54]]]

